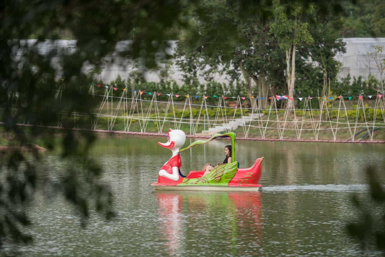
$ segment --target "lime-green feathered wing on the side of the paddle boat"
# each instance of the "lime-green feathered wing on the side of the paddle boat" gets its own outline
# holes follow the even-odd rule
[[[184,178],[178,186],[227,186],[229,181],[234,178],[237,166],[238,162],[221,164],[202,178]]]

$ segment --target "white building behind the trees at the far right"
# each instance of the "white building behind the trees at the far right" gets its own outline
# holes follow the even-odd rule
[[[363,76],[365,79],[369,74],[373,74],[380,79],[380,71],[377,61],[385,58],[385,37],[349,37],[344,38],[346,43],[346,53],[338,53],[335,58],[342,63],[339,78],[345,78],[348,74],[353,78]],[[377,56],[371,55],[374,52],[373,46],[382,46],[383,51]],[[385,77],[385,74],[383,75]]]

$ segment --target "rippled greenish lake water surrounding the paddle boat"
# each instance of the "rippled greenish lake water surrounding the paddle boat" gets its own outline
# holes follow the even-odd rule
[[[376,254],[361,252],[346,235],[345,225],[356,215],[352,195],[368,197],[365,167],[371,164],[385,170],[384,145],[238,141],[236,159],[241,167],[265,157],[261,192],[179,192],[155,191],[150,186],[171,157],[157,140],[166,141],[100,139],[92,156],[114,191],[117,218],[106,222],[92,215],[83,229],[69,203],[37,196],[30,210],[35,241],[22,247],[21,254]],[[228,140],[216,140],[183,152],[182,173],[222,161],[226,144]],[[65,166],[58,155],[46,155],[53,174]]]

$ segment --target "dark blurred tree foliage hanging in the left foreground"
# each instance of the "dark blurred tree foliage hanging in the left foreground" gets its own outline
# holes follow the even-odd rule
[[[48,149],[54,148],[54,131],[42,130],[38,125],[55,125],[60,113],[74,111],[88,114],[79,127],[89,128],[93,119],[92,108],[97,102],[80,89],[88,85],[84,64],[94,67],[100,60],[117,51],[129,59],[141,58],[147,68],[156,66],[155,55],[169,55],[168,40],[176,38],[174,27],[184,26],[181,18],[184,2],[166,1],[10,1],[0,3],[0,107],[6,131],[15,134],[15,147],[1,155],[0,169],[7,179],[0,181],[0,245],[13,238],[27,242],[23,227],[30,224],[27,206],[33,194],[50,183],[42,167],[35,161],[42,158],[34,151],[35,158],[25,157],[20,147],[32,148],[29,142],[42,136]],[[58,31],[76,39],[71,51],[55,45],[60,38]],[[173,32],[174,31],[174,32]],[[173,34],[174,33],[174,34]],[[28,38],[36,40],[30,44]],[[117,49],[117,42],[131,39],[129,44]],[[47,45],[46,52],[40,49]],[[60,57],[62,71],[52,66],[52,60]],[[100,72],[97,72],[100,74]],[[59,77],[58,77],[59,76]],[[55,101],[57,80],[64,81],[62,98]],[[62,79],[62,80],[61,80]],[[87,92],[87,91],[85,91]],[[8,95],[18,94],[18,101]],[[25,133],[18,122],[29,122],[31,133]],[[72,127],[64,119],[63,126]],[[82,220],[86,221],[90,208],[105,218],[111,218],[113,196],[107,185],[100,181],[102,170],[87,152],[95,136],[89,132],[75,134],[63,132],[62,157],[72,162],[63,167],[63,176],[55,186],[56,193],[74,204]],[[43,136],[44,135],[44,136]],[[78,176],[77,170],[85,169],[86,176]]]

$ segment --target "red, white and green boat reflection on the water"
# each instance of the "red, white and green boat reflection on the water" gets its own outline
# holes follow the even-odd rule
[[[224,245],[261,242],[261,192],[154,191],[158,200],[159,233],[167,254],[181,254],[216,237]],[[184,214],[185,213],[185,214]],[[199,238],[199,242],[194,242]],[[250,245],[250,243],[252,245]]]

